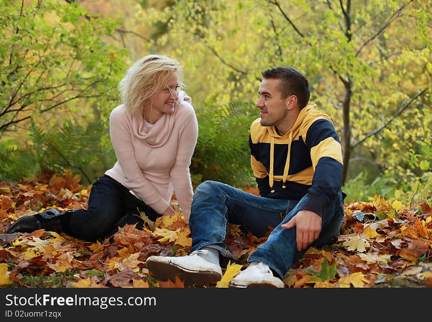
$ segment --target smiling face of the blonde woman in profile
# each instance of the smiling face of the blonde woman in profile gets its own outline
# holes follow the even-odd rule
[[[176,72],[168,79],[162,89],[153,98],[152,108],[145,111],[145,119],[149,123],[156,123],[163,113],[171,114],[179,104],[179,77]]]

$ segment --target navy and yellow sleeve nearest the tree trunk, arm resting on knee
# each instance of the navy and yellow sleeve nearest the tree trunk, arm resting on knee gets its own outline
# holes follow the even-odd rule
[[[306,133],[314,175],[303,210],[322,216],[324,208],[342,186],[342,149],[333,124],[326,119],[313,122]]]

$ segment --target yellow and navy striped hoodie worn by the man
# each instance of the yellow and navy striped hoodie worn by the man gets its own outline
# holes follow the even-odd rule
[[[309,102],[280,136],[256,119],[250,126],[251,166],[262,197],[308,199],[301,210],[322,215],[342,186],[342,149],[332,119]]]

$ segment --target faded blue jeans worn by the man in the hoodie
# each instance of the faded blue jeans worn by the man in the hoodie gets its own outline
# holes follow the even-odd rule
[[[256,237],[264,237],[271,226],[274,229],[267,241],[256,248],[247,261],[263,262],[282,278],[306,249],[297,250],[296,226],[284,229],[280,225],[289,222],[302,209],[306,198],[307,195],[299,201],[264,198],[224,183],[205,181],[196,188],[193,196],[189,219],[191,250],[211,247],[217,249],[222,258],[236,261],[224,243],[228,223],[242,225]],[[344,218],[343,199],[339,190],[322,214],[320,236],[310,246],[323,246],[340,233]]]

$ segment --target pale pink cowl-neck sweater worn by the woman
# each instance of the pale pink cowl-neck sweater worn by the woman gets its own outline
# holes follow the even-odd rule
[[[174,191],[189,221],[193,195],[189,166],[198,136],[192,105],[183,100],[173,114],[163,114],[147,131],[143,118],[133,118],[123,104],[111,111],[109,132],[117,162],[105,174],[159,214],[168,208]]]

